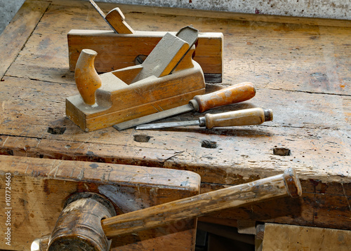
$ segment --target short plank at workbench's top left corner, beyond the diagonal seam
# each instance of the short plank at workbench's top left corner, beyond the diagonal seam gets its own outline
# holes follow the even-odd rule
[[[13,20],[11,20],[10,25],[1,33],[0,79],[2,79],[23,46],[25,46],[27,39],[49,5],[50,2],[48,1],[25,1],[18,13],[13,17]]]

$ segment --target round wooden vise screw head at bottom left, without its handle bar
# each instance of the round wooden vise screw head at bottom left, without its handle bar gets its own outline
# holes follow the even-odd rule
[[[100,222],[113,216],[114,206],[105,197],[86,192],[74,194],[67,199],[56,221],[48,248],[41,250],[109,251],[111,240],[105,236]]]

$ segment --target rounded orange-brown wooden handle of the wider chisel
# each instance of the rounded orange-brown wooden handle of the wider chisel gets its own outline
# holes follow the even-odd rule
[[[196,95],[190,103],[199,112],[207,111],[214,107],[221,107],[227,104],[234,104],[250,100],[256,95],[253,83],[243,82],[237,85],[217,90],[213,93]]]

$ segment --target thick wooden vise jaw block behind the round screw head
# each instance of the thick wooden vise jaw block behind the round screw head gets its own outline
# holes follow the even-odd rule
[[[117,214],[199,194],[200,177],[193,172],[18,156],[0,156],[0,164],[4,200],[8,190],[5,174],[11,177],[11,199],[6,206],[11,208],[11,225],[0,226],[1,233],[11,228],[11,245],[6,245],[5,238],[0,240],[0,249],[5,250],[29,250],[35,238],[50,235],[67,198],[77,192],[102,194],[114,203]],[[5,207],[1,210],[4,212]],[[0,220],[8,220],[5,212]],[[165,250],[167,245],[169,250],[186,250],[194,245],[194,226],[194,220],[185,220],[118,236],[112,238],[112,247]]]

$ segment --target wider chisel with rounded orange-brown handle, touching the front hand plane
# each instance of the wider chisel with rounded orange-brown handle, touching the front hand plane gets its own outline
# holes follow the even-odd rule
[[[238,83],[234,86],[229,86],[213,93],[204,95],[196,95],[194,99],[190,100],[189,104],[180,107],[175,107],[165,111],[159,111],[155,114],[150,114],[140,118],[135,118],[130,121],[118,123],[113,127],[117,130],[124,130],[132,128],[152,121],[157,121],[162,118],[169,118],[178,114],[184,114],[189,111],[204,112],[208,109],[221,107],[227,104],[234,104],[250,100],[256,95],[255,87],[250,82]]]

